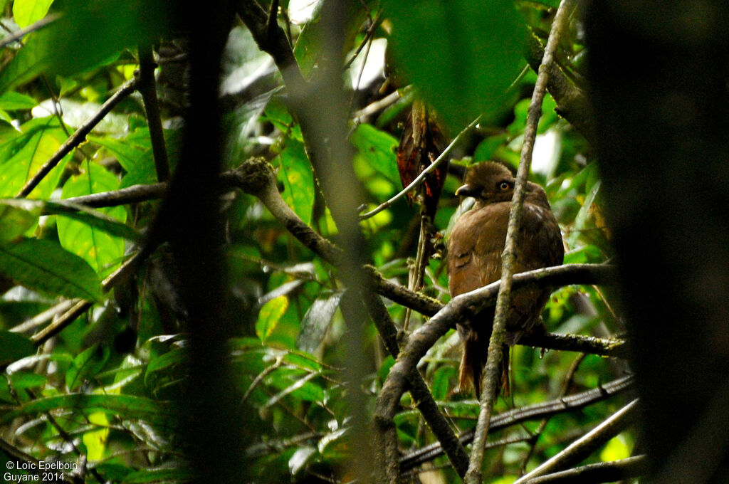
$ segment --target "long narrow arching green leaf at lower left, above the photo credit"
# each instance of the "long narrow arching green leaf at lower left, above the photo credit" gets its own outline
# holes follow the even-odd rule
[[[145,418],[150,421],[170,421],[178,412],[169,402],[160,402],[130,395],[65,394],[32,400],[0,416],[0,423],[9,423],[21,415],[36,415],[63,408],[84,415],[104,412],[120,418]]]

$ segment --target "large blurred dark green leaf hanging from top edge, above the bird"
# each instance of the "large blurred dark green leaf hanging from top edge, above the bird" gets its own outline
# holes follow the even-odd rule
[[[453,133],[479,114],[496,114],[518,76],[522,44],[512,0],[383,2],[391,48],[405,79]]]

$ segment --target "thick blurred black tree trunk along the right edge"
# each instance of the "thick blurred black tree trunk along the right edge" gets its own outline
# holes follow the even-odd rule
[[[655,482],[729,475],[725,1],[588,12],[591,98]]]

